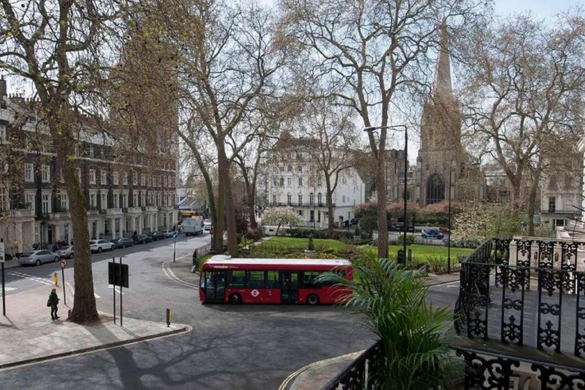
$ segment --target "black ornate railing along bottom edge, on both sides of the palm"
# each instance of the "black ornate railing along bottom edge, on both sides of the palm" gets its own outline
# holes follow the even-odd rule
[[[506,356],[473,348],[457,347],[453,353],[466,364],[465,377],[460,382],[466,390],[585,388],[585,367]],[[384,369],[385,358],[378,341],[321,390],[382,390],[376,385],[376,371]]]

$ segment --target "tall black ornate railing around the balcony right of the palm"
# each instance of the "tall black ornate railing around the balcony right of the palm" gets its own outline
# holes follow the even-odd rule
[[[585,243],[536,239],[490,239],[481,244],[460,270],[457,333],[585,354],[580,247]]]

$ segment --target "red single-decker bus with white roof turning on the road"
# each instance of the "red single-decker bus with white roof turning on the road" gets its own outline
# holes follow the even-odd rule
[[[315,281],[323,272],[353,278],[352,264],[343,259],[231,258],[214,256],[202,266],[202,302],[335,303],[346,289]]]

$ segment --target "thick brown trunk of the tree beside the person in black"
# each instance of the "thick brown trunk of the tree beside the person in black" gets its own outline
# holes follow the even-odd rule
[[[57,153],[59,164],[63,170],[69,198],[69,213],[73,232],[73,246],[75,247],[75,261],[73,262],[74,301],[70,320],[76,323],[90,323],[99,319],[95,306],[94,280],[91,269],[91,251],[89,246],[90,232],[87,227],[87,212],[85,210],[85,196],[75,170],[75,160],[68,156],[73,155],[74,147],[71,144],[71,130],[64,128],[70,123],[68,118],[54,116],[50,119],[50,129],[54,145],[59,145]]]

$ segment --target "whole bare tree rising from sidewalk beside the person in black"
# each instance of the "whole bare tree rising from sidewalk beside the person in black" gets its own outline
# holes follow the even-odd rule
[[[103,1],[2,0],[0,68],[33,82],[40,115],[63,169],[75,246],[75,302],[71,319],[98,318],[91,272],[85,196],[75,173],[75,111],[98,72],[106,29],[118,4]]]

